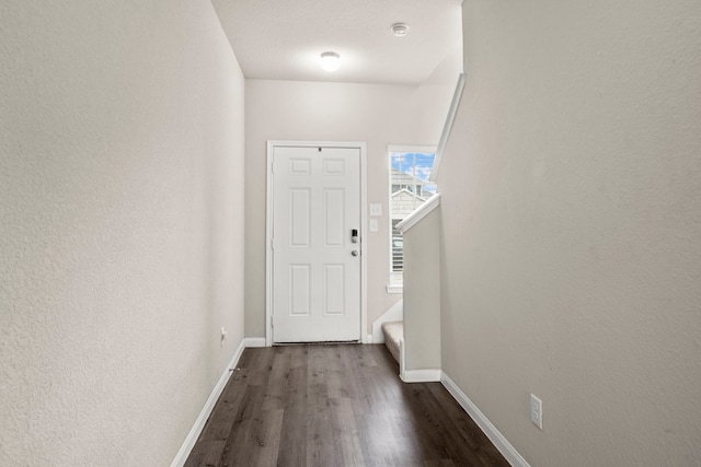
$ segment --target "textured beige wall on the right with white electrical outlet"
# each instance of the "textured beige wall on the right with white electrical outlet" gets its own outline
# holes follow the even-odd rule
[[[444,370],[533,466],[700,465],[701,3],[463,17]]]

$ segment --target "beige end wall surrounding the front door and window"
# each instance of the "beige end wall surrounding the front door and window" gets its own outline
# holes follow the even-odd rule
[[[453,66],[457,79],[459,70]],[[369,325],[401,295],[386,291],[389,275],[388,144],[436,144],[450,86],[246,80],[245,332],[265,336],[266,141],[367,142],[368,202],[380,202],[380,231],[368,232]],[[443,112],[440,112],[443,110]],[[441,115],[424,121],[421,116]]]

